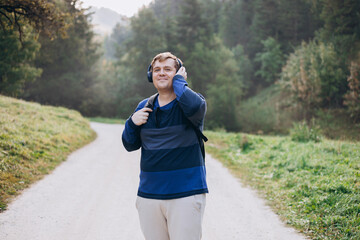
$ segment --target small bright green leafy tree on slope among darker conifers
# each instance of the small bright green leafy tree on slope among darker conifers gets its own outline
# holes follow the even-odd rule
[[[255,62],[259,62],[261,67],[255,75],[261,76],[267,83],[274,83],[280,75],[283,65],[283,53],[280,44],[272,37],[261,41],[264,48],[262,52],[256,54]]]

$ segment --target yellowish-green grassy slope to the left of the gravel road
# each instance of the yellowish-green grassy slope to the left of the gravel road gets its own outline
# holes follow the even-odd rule
[[[94,138],[89,122],[76,111],[0,95],[0,212]]]

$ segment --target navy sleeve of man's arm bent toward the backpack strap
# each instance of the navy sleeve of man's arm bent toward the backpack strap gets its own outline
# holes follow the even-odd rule
[[[147,99],[141,101],[137,106],[135,112],[142,109],[147,102]],[[134,112],[134,113],[135,113]],[[129,152],[138,150],[141,147],[141,137],[140,137],[140,129],[141,126],[135,125],[132,121],[131,116],[126,120],[125,128],[122,133],[122,142],[125,149]]]

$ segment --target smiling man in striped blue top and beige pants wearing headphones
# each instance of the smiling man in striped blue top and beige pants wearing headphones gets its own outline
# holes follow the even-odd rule
[[[141,229],[146,240],[199,240],[208,189],[195,128],[203,129],[206,102],[173,54],[156,55],[149,71],[158,92],[153,109],[141,101],[122,135],[128,151],[141,147]]]

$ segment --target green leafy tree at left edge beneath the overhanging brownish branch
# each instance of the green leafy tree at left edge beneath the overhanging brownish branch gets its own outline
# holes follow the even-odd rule
[[[8,96],[18,96],[25,82],[34,81],[42,72],[32,64],[40,49],[37,36],[29,26],[24,26],[22,31],[26,32],[22,43],[15,29],[0,31],[0,93]]]

